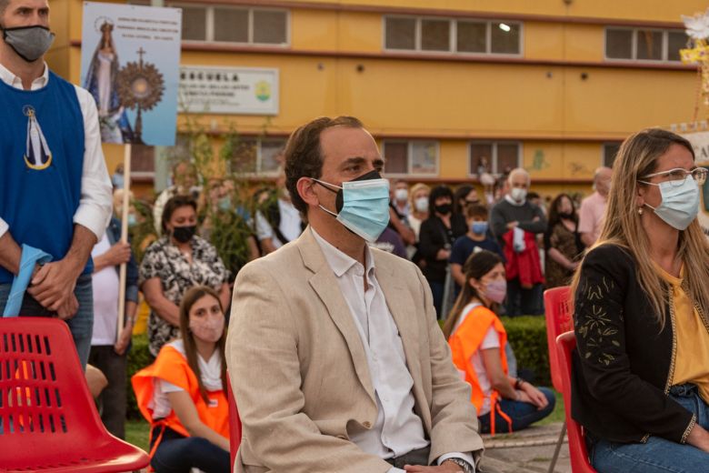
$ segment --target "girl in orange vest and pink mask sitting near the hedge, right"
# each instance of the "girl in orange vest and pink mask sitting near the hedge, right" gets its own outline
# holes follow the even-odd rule
[[[502,259],[479,251],[463,270],[467,284],[444,324],[454,365],[472,387],[481,433],[520,430],[554,410],[554,393],[507,374],[507,333],[494,313],[506,293]]]

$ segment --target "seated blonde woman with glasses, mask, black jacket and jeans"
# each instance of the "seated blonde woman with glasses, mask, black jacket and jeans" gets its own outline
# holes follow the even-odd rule
[[[600,472],[709,471],[706,170],[648,129],[615,161],[604,228],[574,276],[572,415]]]

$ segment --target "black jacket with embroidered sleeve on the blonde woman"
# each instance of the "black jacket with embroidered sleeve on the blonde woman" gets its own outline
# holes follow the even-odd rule
[[[676,354],[667,294],[661,329],[629,252],[604,245],[584,258],[574,296],[571,410],[597,438],[630,443],[652,435],[684,443],[694,427],[694,414],[667,396]]]

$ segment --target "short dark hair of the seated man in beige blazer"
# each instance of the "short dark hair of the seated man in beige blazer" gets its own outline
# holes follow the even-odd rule
[[[354,116],[321,116],[296,129],[285,145],[285,187],[291,196],[291,202],[303,215],[307,213],[308,206],[298,194],[298,179],[317,179],[323,175],[324,156],[320,147],[320,134],[333,126],[364,128],[362,122]]]

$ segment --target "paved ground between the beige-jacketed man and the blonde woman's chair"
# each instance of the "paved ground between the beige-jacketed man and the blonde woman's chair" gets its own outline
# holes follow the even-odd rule
[[[554,447],[559,438],[562,424],[530,427],[510,435],[483,436],[485,462],[500,473],[524,471],[543,473],[549,470],[554,456]],[[571,473],[569,447],[564,444],[559,452],[555,473]]]

